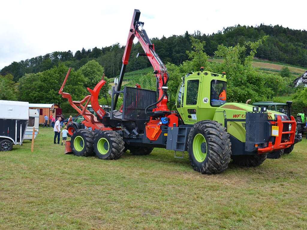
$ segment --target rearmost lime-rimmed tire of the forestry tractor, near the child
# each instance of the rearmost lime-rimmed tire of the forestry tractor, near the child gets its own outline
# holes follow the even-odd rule
[[[93,155],[93,131],[89,129],[78,129],[73,133],[70,141],[72,152],[76,156]]]

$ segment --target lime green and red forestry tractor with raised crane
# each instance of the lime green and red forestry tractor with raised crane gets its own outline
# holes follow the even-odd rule
[[[103,79],[94,89],[87,88],[90,94],[82,101],[73,101],[70,94],[63,92],[71,69],[68,70],[59,94],[84,116],[82,124],[87,129],[73,133],[66,143],[66,152],[118,159],[126,150],[134,155],[147,155],[153,148],[166,148],[173,150],[177,158],[187,151],[195,171],[216,174],[225,171],[231,159],[237,165],[252,167],[262,164],[267,153],[292,150],[299,141],[295,136],[295,119],[289,115],[292,102],[287,102],[287,114],[227,103],[225,73],[216,74],[204,68],[187,73],[177,91],[177,110],[169,110],[167,82],[171,76],[139,17],[140,11],[134,10],[118,84],[112,90],[110,113],[98,104],[99,91],[106,83]],[[147,56],[153,66],[156,91],[139,85],[121,89],[135,37],[144,50],[138,56]],[[116,109],[119,95],[123,103]],[[87,110],[90,102],[97,116]]]

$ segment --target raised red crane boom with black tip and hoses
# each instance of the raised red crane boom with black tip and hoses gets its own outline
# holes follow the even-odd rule
[[[119,91],[122,86],[122,80],[124,78],[126,65],[129,62],[133,40],[136,37],[145,52],[143,56],[147,56],[147,58],[149,59],[154,69],[153,73],[157,78],[157,91],[159,93],[159,98],[157,101],[157,107],[153,109],[153,111],[169,111],[167,107],[167,81],[169,79],[169,75],[167,73],[164,63],[155,52],[154,44],[151,43],[145,29],[143,29],[144,22],[138,21],[140,18],[140,14],[141,12],[139,10],[134,10],[126,48],[122,57],[122,69],[119,75],[119,81],[116,90]],[[117,100],[118,94],[116,94],[114,98],[114,108],[116,108]]]

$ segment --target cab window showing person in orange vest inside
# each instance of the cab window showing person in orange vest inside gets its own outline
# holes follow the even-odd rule
[[[211,106],[221,106],[226,103],[227,83],[220,80],[211,81]]]

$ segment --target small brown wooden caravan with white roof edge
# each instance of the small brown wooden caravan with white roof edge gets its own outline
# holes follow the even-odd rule
[[[57,104],[31,104],[29,103],[29,109],[39,109],[39,124],[45,123],[45,115],[48,116],[48,124],[49,117],[53,115],[55,117],[62,115],[62,109]]]

